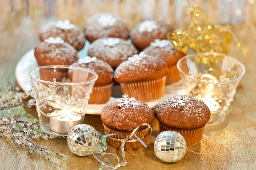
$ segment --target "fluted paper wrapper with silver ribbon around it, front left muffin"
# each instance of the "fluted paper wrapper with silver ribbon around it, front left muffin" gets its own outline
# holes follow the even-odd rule
[[[123,132],[123,131],[119,131],[119,130],[114,130],[111,128],[106,127],[104,124],[104,130],[107,134],[111,134],[111,133],[118,133],[121,134],[124,138],[126,136],[130,136],[131,132]],[[148,142],[148,131],[149,131],[149,127],[143,129],[143,130],[138,130],[137,132],[135,132],[135,134],[144,142]],[[107,137],[106,141],[107,143],[116,148],[116,149],[120,149],[122,142],[118,141],[118,140],[114,140],[114,139],[123,139],[123,137],[121,135],[113,135],[111,137]],[[143,138],[144,137],[144,138]],[[134,139],[137,139],[135,136],[133,137]],[[142,139],[143,138],[143,139]],[[132,140],[132,139],[131,139]],[[141,147],[144,147],[143,144],[141,144],[139,141],[137,142],[125,142],[125,150],[137,150]]]

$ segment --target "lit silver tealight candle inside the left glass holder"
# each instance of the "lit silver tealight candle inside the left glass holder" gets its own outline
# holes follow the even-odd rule
[[[50,128],[58,133],[68,133],[72,127],[83,124],[81,116],[73,115],[68,111],[54,111],[50,116],[56,116],[50,117]]]

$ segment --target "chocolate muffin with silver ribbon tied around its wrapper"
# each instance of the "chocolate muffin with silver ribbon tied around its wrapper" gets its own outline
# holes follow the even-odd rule
[[[154,113],[151,108],[143,102],[124,95],[102,109],[101,119],[107,134],[117,133],[107,137],[107,142],[117,149],[121,146],[121,140],[143,123],[151,124],[154,120]],[[145,143],[148,141],[149,127],[140,126],[136,135]],[[130,139],[131,141],[131,139]],[[136,150],[143,147],[140,142],[126,142],[125,150]]]

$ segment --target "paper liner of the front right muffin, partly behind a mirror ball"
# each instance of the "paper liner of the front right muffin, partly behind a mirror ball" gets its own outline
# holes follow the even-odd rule
[[[204,132],[204,127],[198,128],[198,129],[177,129],[173,127],[167,127],[165,125],[162,125],[159,123],[159,130],[160,132],[167,131],[167,130],[172,130],[180,133],[185,141],[186,141],[186,146],[190,147],[193,144],[196,144],[197,142],[201,141],[203,132]]]

